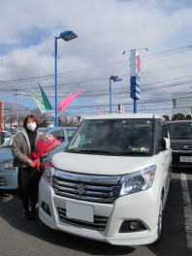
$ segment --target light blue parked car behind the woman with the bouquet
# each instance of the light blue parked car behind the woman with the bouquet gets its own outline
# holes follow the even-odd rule
[[[61,140],[60,144],[55,149],[48,153],[48,157],[44,158],[47,162],[54,153],[62,151],[66,148],[67,144],[72,139],[77,128],[75,127],[58,127],[58,128],[39,128],[43,134],[51,134],[58,140]],[[0,189],[13,190],[17,189],[17,167],[13,167],[13,154],[12,144],[14,136],[10,138],[6,143],[0,146]]]

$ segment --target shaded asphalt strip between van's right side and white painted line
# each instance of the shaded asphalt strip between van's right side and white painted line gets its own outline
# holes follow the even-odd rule
[[[180,171],[174,170],[170,191],[164,210],[163,237],[159,244],[147,247],[158,256],[190,256],[187,248],[182,204]]]

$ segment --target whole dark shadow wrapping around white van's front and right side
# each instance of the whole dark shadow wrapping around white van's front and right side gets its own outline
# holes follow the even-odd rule
[[[192,186],[192,180],[189,181]],[[0,192],[0,215],[11,228],[33,236],[53,245],[58,245],[76,253],[88,255],[156,255],[156,256],[190,256],[192,252],[186,247],[184,213],[179,173],[173,175],[170,193],[164,210],[164,235],[160,243],[146,246],[114,246],[107,242],[87,240],[68,233],[49,229],[41,220],[24,222],[22,206],[16,193]],[[78,255],[78,254],[77,254]]]

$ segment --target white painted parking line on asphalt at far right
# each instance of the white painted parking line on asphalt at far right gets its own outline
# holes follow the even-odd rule
[[[189,196],[189,189],[187,184],[187,178],[185,174],[180,174],[181,186],[182,186],[182,199],[184,208],[184,219],[185,219],[185,231],[187,247],[192,249],[192,205]]]

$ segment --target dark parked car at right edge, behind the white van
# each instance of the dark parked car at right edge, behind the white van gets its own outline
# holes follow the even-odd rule
[[[168,123],[174,168],[192,168],[192,120]]]

